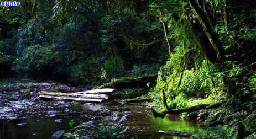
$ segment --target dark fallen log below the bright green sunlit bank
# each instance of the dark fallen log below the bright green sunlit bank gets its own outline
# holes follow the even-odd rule
[[[202,105],[196,105],[196,106],[191,106],[189,108],[182,108],[182,109],[168,109],[168,110],[164,110],[164,111],[156,111],[153,108],[151,108],[151,111],[154,115],[155,118],[157,117],[161,117],[164,118],[166,114],[170,114],[170,115],[176,115],[176,114],[182,114],[182,113],[190,113],[193,111],[198,111],[198,110],[202,110],[202,109],[215,109],[220,107],[224,102],[219,102],[219,103],[215,103],[215,104],[202,104]]]

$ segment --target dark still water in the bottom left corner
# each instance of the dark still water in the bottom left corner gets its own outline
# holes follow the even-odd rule
[[[26,122],[27,125],[17,126]],[[0,139],[45,139],[58,130],[67,129],[67,124],[55,124],[54,119],[0,120]]]

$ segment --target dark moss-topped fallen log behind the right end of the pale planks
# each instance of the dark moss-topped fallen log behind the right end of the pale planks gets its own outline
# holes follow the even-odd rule
[[[148,84],[154,86],[157,76],[142,76],[137,78],[122,78],[115,79],[109,83],[102,84],[97,89],[100,88],[114,88],[117,90],[126,88],[149,88]]]

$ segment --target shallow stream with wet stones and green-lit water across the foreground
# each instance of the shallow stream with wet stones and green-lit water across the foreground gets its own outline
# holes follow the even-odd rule
[[[39,85],[41,87],[41,84]],[[159,130],[187,132],[191,135],[211,132],[185,120],[167,117],[155,119],[151,114],[150,106],[147,105],[122,105],[117,100],[110,100],[101,104],[74,103],[62,100],[41,100],[36,96],[35,92],[38,89],[63,87],[56,86],[48,84],[46,87],[36,87],[36,89],[30,90],[31,96],[27,98],[20,98],[22,94],[19,89],[9,92],[2,90],[0,100],[1,98],[7,98],[7,100],[4,106],[0,106],[0,138],[51,138],[56,131],[69,131],[71,129],[70,121],[93,121],[97,126],[111,125],[127,114],[130,116],[122,122],[122,127],[128,127],[126,134],[131,138],[181,138],[163,135],[159,133]],[[67,87],[64,86],[64,88]],[[75,89],[80,90],[79,88]],[[72,91],[71,89],[70,92],[77,90]],[[15,100],[13,97],[19,99]]]

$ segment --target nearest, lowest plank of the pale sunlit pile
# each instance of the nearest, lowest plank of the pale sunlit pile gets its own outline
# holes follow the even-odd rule
[[[74,97],[56,97],[50,95],[39,95],[40,98],[47,99],[61,99],[61,100],[79,100],[79,101],[91,101],[91,102],[102,102],[104,99],[92,99],[92,98],[74,98]]]

